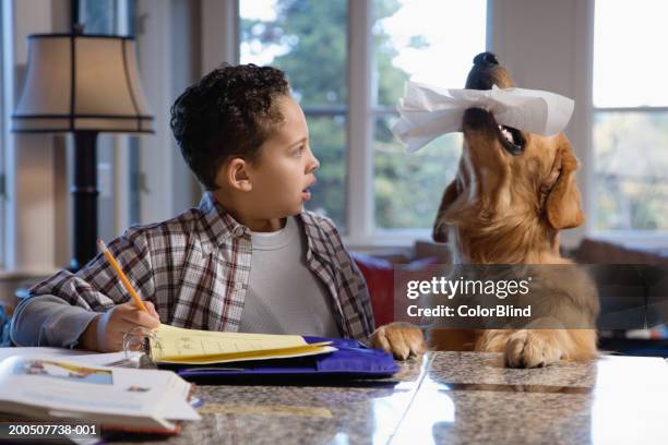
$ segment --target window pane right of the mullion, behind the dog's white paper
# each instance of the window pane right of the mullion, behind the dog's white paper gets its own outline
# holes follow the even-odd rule
[[[390,132],[408,79],[463,88],[485,50],[485,0],[374,0],[373,203],[375,227],[427,229],[454,178],[462,135],[448,134],[407,154]],[[428,14],[425,11],[429,11]],[[444,17],[457,17],[444,25]]]

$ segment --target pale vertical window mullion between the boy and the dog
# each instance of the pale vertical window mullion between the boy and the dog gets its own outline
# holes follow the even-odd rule
[[[372,3],[348,0],[348,169],[349,242],[373,230],[373,154],[371,141]]]

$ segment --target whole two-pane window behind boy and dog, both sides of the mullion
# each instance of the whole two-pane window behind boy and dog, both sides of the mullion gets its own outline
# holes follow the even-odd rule
[[[360,0],[361,1],[361,0]],[[354,20],[357,0],[241,0],[240,61],[272,64],[286,71],[295,96],[307,116],[311,144],[321,160],[310,209],[346,229],[351,208],[347,181],[348,149],[372,152],[372,175],[367,205],[371,221],[361,226],[378,234],[386,229],[431,227],[445,184],[452,180],[460,156],[461,136],[446,135],[418,154],[404,153],[390,125],[408,79],[463,88],[473,57],[485,50],[486,0],[363,0],[369,22]],[[354,4],[355,3],[355,4]],[[425,14],[426,9],[430,11]],[[456,16],[448,26],[443,17]],[[350,26],[367,26],[353,29]],[[372,142],[360,146],[347,134],[351,89],[347,53],[350,35],[370,36],[366,53],[371,94],[363,116]],[[363,88],[362,88],[363,91]],[[363,145],[363,144],[362,144]],[[359,230],[359,229],[358,229]]]

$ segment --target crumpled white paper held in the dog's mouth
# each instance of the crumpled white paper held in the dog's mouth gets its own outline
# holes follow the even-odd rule
[[[444,89],[407,82],[392,132],[408,152],[416,152],[442,134],[462,131],[467,109],[484,108],[501,125],[551,136],[569,123],[574,105],[573,99],[538,89]]]

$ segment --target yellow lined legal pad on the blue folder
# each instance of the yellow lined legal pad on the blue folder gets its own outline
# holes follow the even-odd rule
[[[151,356],[163,363],[211,364],[285,359],[333,352],[331,341],[308,344],[298,335],[238,334],[160,325],[151,338]]]

